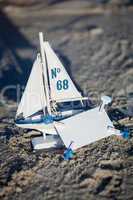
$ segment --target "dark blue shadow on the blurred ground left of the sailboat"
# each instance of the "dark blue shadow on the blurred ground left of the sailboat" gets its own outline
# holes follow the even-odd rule
[[[22,58],[19,51],[34,49],[35,46],[19,31],[10,18],[0,10],[0,90],[9,85],[25,84],[31,58]],[[11,92],[12,93],[12,92]],[[12,94],[9,94],[9,98]]]

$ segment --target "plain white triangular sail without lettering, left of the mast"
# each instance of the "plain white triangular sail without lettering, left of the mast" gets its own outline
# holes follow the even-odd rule
[[[23,117],[28,117],[35,112],[45,108],[46,99],[44,93],[42,64],[40,57],[37,56],[27,82],[22,99],[18,106],[17,116],[21,113]]]

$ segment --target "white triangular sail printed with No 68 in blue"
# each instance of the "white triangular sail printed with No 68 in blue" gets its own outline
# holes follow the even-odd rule
[[[44,42],[44,51],[48,67],[51,99],[58,102],[81,99],[81,94],[48,42]]]

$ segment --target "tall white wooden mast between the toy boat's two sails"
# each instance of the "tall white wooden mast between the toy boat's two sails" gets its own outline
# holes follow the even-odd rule
[[[48,86],[48,76],[47,76],[47,63],[46,63],[46,55],[44,52],[44,48],[43,48],[43,33],[40,32],[39,33],[39,39],[40,39],[40,49],[41,49],[41,58],[42,58],[42,65],[43,65],[43,75],[44,75],[44,88],[45,88],[45,92],[46,92],[46,104],[47,104],[47,111],[48,114],[51,115],[51,107],[50,107],[50,96],[49,96],[49,86]]]

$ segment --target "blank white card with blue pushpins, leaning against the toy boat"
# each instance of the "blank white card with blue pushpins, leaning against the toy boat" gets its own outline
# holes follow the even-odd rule
[[[73,142],[73,149],[80,148],[92,142],[114,134],[108,128],[113,127],[105,110],[99,112],[99,107],[61,121],[62,126],[55,124],[65,146]]]

